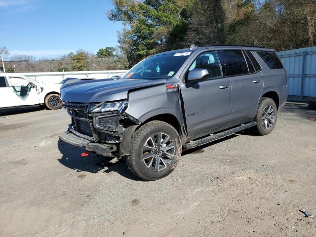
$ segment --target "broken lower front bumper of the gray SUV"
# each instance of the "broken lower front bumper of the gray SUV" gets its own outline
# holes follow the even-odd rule
[[[96,143],[91,137],[79,134],[73,129],[68,129],[59,136],[62,142],[66,142],[73,146],[82,147],[86,151],[97,153],[105,157],[116,157],[113,152],[117,151],[117,146],[114,144]]]

